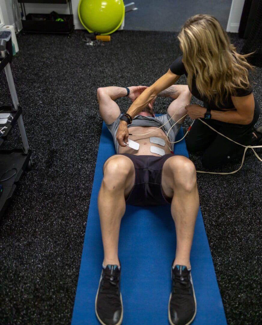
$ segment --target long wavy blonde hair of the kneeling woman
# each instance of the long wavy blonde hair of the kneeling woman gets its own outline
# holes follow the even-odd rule
[[[201,96],[216,105],[225,96],[235,96],[237,88],[248,89],[250,54],[241,55],[229,41],[218,20],[210,15],[195,15],[182,27],[178,39],[183,52],[183,63],[188,72],[188,85],[196,87]]]

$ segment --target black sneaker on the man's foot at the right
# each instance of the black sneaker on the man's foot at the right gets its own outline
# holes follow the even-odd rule
[[[196,314],[196,300],[191,272],[186,266],[176,265],[171,270],[172,287],[168,303],[168,319],[171,325],[188,325]]]

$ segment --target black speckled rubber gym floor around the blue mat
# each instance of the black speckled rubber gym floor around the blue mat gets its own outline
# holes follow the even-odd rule
[[[35,164],[0,223],[0,324],[70,323],[102,126],[96,89],[150,85],[179,53],[175,33],[122,31],[104,46],[85,45],[83,35],[18,38],[12,72]],[[255,76],[262,107],[261,68]],[[159,98],[156,112],[169,102]],[[9,103],[2,73],[0,104]],[[127,98],[118,103],[122,111],[130,105]],[[14,147],[21,147],[18,128],[5,144]],[[199,157],[191,158],[202,169]],[[261,167],[251,154],[237,174],[198,174],[229,324],[261,321]]]

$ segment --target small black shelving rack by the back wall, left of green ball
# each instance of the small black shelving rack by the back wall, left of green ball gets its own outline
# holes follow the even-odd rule
[[[74,20],[71,0],[18,0],[21,3],[23,16],[23,32],[30,33],[60,33],[68,34],[70,37],[74,30]],[[26,14],[25,3],[45,3],[45,4],[69,4],[69,15],[59,14],[64,21],[50,19],[49,14]]]

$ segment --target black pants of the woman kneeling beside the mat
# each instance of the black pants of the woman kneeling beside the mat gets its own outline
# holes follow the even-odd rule
[[[203,120],[221,134],[243,145],[255,145],[256,136],[252,134],[254,124],[259,117],[259,106],[255,99],[255,112],[253,121],[248,125],[225,123],[217,120]],[[233,159],[242,158],[244,147],[220,136],[199,120],[195,120],[186,137],[189,152],[204,150],[202,164],[207,169],[215,169],[231,162]],[[250,150],[250,149],[249,149]]]

